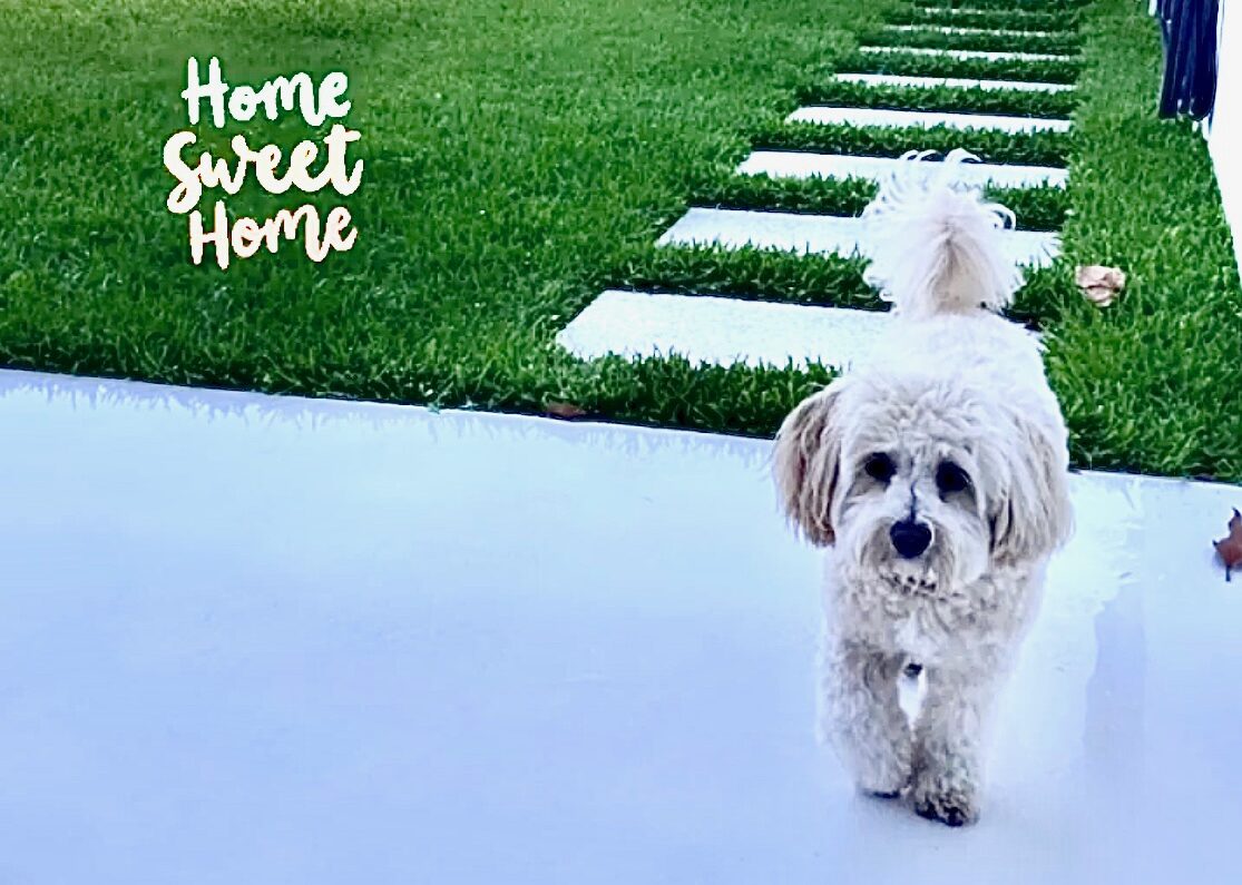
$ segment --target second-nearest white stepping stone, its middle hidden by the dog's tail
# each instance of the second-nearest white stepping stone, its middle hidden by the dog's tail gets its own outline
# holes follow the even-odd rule
[[[1054,233],[1005,231],[1005,249],[1017,264],[1042,267],[1059,252]],[[664,232],[657,246],[723,246],[781,249],[805,254],[868,254],[858,218],[739,209],[692,209]]]

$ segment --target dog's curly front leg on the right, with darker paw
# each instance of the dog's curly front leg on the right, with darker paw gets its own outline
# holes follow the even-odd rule
[[[997,690],[989,670],[936,667],[915,725],[914,811],[950,827],[979,819],[984,729]]]

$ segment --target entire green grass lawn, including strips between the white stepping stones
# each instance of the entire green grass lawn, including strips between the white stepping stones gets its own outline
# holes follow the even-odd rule
[[[1015,314],[1048,333],[1074,462],[1242,479],[1242,386],[1228,381],[1242,356],[1237,274],[1201,139],[1154,115],[1154,24],[1131,0],[959,5],[982,11],[954,24],[1016,21],[1057,31],[1041,48],[1081,45],[1081,63],[1032,68],[1079,78],[1078,97],[831,83],[838,67],[981,72],[858,56],[856,35],[883,21],[948,20],[897,0],[0,0],[0,362],[489,410],[565,401],[610,420],[770,434],[830,371],[582,364],[554,335],[609,285],[877,308],[857,262],[652,243],[689,205],[853,212],[869,195],[857,182],[739,180],[753,145],[895,155],[965,142],[989,160],[1071,165],[1067,194],[994,196],[1023,226],[1064,225],[1067,258],[1032,278]],[[160,153],[186,125],[190,55],[220,56],[233,83],[349,74],[345,122],[363,134],[350,158],[366,171],[353,196],[314,202],[350,209],[353,251],[314,264],[291,242],[224,273],[189,263]],[[810,101],[1073,113],[1077,128],[963,137],[782,122]],[[327,128],[199,132],[227,154],[237,130],[291,146]],[[306,197],[226,200],[266,217]],[[1081,300],[1078,261],[1129,272],[1118,305]]]

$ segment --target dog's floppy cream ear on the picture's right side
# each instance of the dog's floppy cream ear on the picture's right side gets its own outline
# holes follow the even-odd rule
[[[992,513],[992,556],[1020,562],[1047,556],[1069,540],[1068,457],[1064,427],[1041,427],[1015,416],[1010,483]]]

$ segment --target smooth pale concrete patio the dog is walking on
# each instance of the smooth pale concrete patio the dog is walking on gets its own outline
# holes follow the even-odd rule
[[[950,830],[814,741],[765,441],[19,372],[0,441],[0,880],[1236,880],[1242,489],[1074,478]]]

